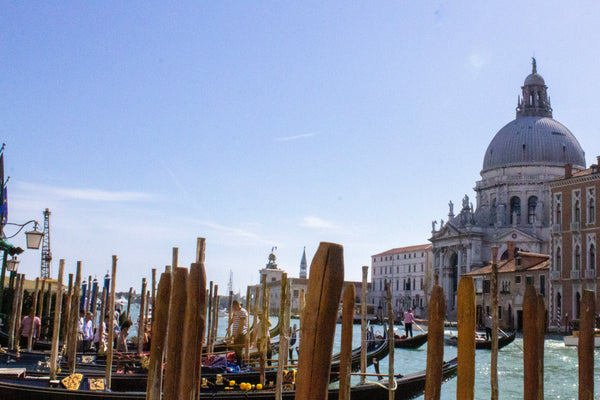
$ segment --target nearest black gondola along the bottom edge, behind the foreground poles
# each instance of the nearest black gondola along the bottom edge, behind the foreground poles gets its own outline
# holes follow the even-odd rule
[[[442,369],[442,381],[445,382],[456,376],[457,361],[453,359],[444,363]],[[385,384],[385,381],[382,381]],[[85,386],[86,382],[82,386]],[[396,390],[394,399],[408,400],[423,394],[425,390],[425,371],[399,375],[396,377]],[[354,386],[351,389],[353,400],[384,400],[389,398],[387,389],[382,388],[375,383]],[[146,398],[145,392],[118,392],[113,386],[113,391],[92,391],[92,390],[66,390],[59,387],[49,387],[47,378],[0,378],[0,398],[3,400],[142,400]],[[201,392],[202,399],[227,399],[227,400],[272,400],[275,399],[274,391],[251,390],[248,392],[239,391],[218,391],[217,388],[207,388]],[[283,392],[283,398],[293,400],[295,392],[286,390]],[[329,389],[328,398],[331,400],[339,399],[339,390]]]

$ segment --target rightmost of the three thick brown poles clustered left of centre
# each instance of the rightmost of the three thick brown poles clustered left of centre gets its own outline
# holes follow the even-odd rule
[[[200,240],[200,238],[199,238]],[[183,360],[179,400],[196,400],[202,382],[202,344],[206,329],[206,271],[204,252],[206,241],[198,242],[196,262],[190,266],[187,286],[187,304],[183,331]]]

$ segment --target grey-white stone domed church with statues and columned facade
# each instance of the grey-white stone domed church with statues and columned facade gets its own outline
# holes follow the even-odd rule
[[[514,251],[551,252],[549,183],[564,176],[567,164],[574,173],[586,165],[575,136],[553,119],[547,89],[533,59],[516,118],[496,133],[484,154],[475,206],[465,195],[456,214],[450,201],[446,223],[432,223],[433,271],[446,294],[448,318],[456,317],[461,275],[486,265],[491,247],[499,248],[502,260],[509,258],[508,242]]]

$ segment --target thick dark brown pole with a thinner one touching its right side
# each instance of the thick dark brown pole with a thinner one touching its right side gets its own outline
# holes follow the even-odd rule
[[[525,287],[525,296],[523,297],[523,352],[523,399],[538,400],[537,296],[532,285]]]

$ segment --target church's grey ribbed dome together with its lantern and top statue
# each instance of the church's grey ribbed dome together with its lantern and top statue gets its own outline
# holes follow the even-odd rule
[[[502,167],[544,165],[585,168],[585,154],[575,136],[552,119],[544,78],[535,58],[525,78],[517,118],[496,133],[483,159],[482,172]]]

